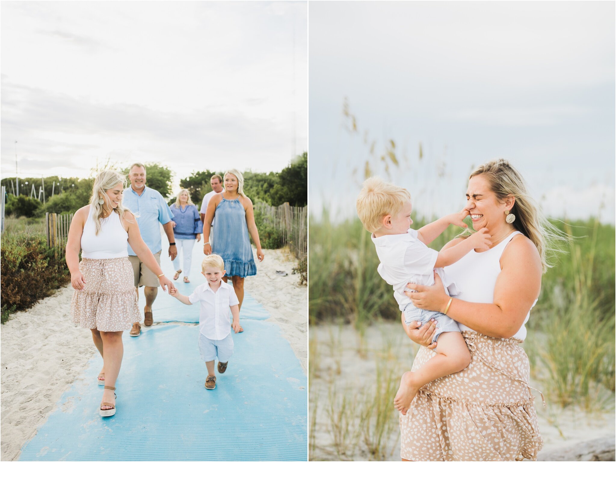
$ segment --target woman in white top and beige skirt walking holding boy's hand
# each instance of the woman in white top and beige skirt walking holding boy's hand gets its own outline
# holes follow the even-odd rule
[[[169,292],[173,286],[142,240],[134,214],[122,206],[125,183],[126,177],[116,171],[99,172],[90,203],[73,216],[66,249],[75,289],[73,321],[90,329],[103,358],[97,377],[97,383],[105,385],[99,410],[102,417],[116,412],[114,391],[124,353],[122,334],[140,320],[128,244],[158,275],[164,290]]]

